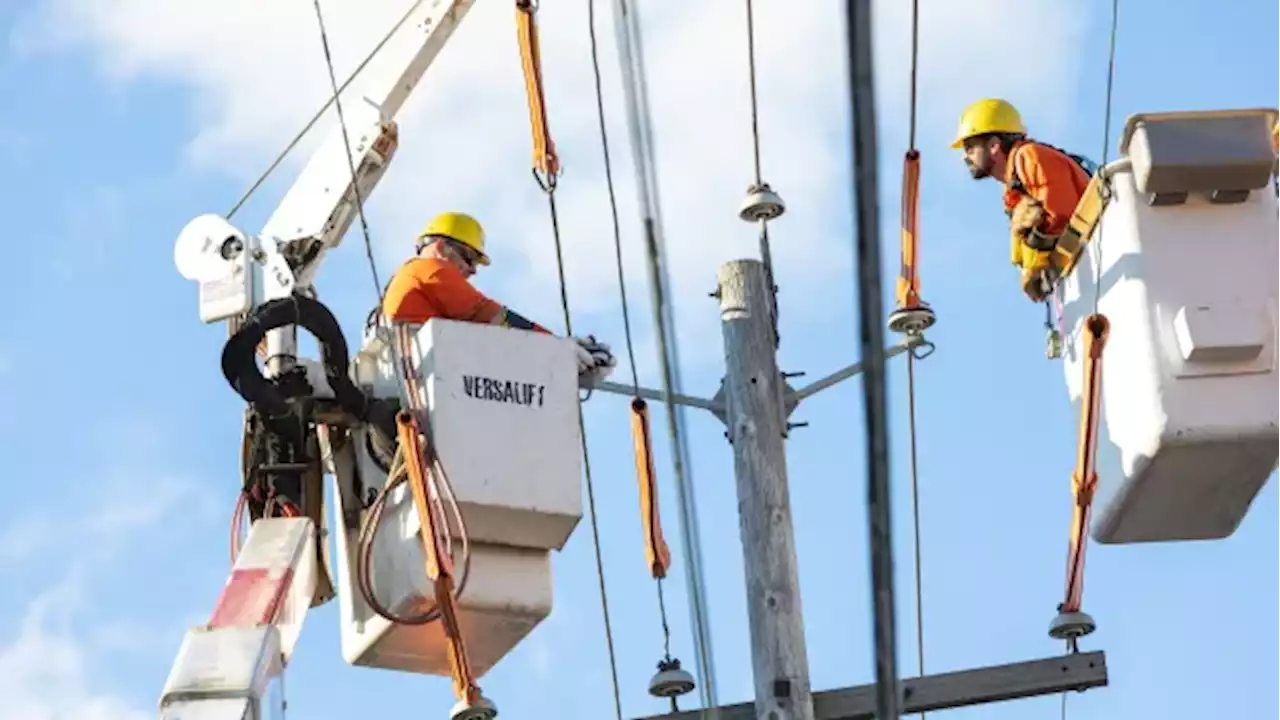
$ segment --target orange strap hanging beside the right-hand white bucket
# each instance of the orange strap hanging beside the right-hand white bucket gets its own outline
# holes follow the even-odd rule
[[[1102,348],[1107,343],[1111,323],[1106,315],[1084,319],[1084,393],[1080,404],[1080,438],[1076,446],[1075,471],[1071,473],[1071,536],[1068,544],[1066,592],[1062,612],[1079,612],[1084,600],[1084,550],[1088,546],[1089,511],[1093,491],[1098,484],[1098,409],[1102,405]]]

